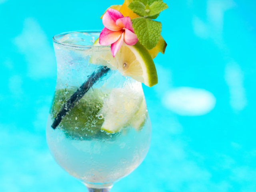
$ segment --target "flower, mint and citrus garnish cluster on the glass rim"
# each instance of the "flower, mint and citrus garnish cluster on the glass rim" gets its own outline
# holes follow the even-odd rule
[[[136,64],[136,66],[142,66],[140,68],[128,69],[127,63],[122,62],[119,62],[117,68],[122,74],[131,76],[147,86],[157,84],[156,68],[152,67],[152,63],[154,65],[152,59],[157,56],[158,52],[164,54],[167,46],[161,36],[162,24],[154,20],[166,8],[168,6],[162,0],[125,0],[122,5],[110,6],[101,17],[104,28],[100,34],[99,44],[111,45],[113,57],[118,54],[119,50],[122,50],[122,46],[128,46],[129,50],[134,51],[135,56],[142,56],[142,60],[137,60],[140,64],[138,62]],[[121,54],[124,56],[126,53]],[[142,73],[136,70],[142,71],[143,66],[147,70],[144,70],[142,78]],[[129,71],[130,75],[125,71]]]

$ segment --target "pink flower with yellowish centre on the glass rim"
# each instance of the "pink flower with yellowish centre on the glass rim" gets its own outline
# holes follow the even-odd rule
[[[110,45],[111,53],[115,57],[123,42],[127,45],[135,45],[138,38],[132,28],[130,17],[124,17],[115,9],[108,9],[102,17],[105,26],[100,33],[100,45]]]

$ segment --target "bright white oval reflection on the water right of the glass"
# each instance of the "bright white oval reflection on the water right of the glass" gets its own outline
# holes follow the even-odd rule
[[[180,87],[169,90],[162,102],[166,108],[179,115],[199,116],[214,108],[216,98],[204,89]]]

